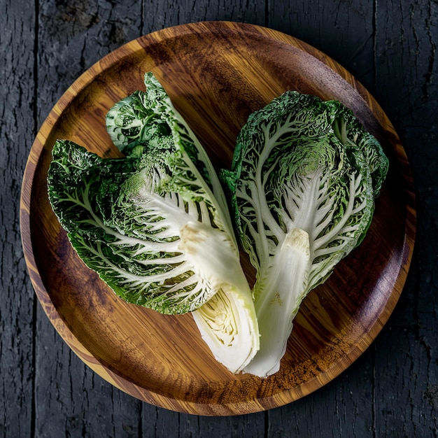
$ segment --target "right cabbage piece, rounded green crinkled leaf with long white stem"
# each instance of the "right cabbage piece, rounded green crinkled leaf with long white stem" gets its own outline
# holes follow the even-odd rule
[[[257,270],[260,351],[245,372],[278,371],[299,305],[364,239],[387,171],[380,144],[338,101],[289,91],[250,115],[222,171]]]

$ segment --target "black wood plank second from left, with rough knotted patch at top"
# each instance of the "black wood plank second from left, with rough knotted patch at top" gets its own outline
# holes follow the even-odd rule
[[[38,125],[83,71],[138,36],[141,3],[41,1],[38,14]],[[139,436],[141,402],[81,362],[41,307],[36,318],[37,437]]]

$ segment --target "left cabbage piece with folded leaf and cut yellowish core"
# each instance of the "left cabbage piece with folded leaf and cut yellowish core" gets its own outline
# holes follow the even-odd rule
[[[125,157],[55,143],[50,203],[80,258],[118,296],[160,313],[192,311],[216,359],[238,372],[259,337],[225,195],[163,87],[151,73],[145,84],[106,118]]]

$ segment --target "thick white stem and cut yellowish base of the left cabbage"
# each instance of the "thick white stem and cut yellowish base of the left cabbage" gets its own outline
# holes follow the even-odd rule
[[[232,241],[225,232],[201,222],[180,231],[178,249],[215,295],[192,316],[218,362],[240,372],[259,347],[253,297]]]

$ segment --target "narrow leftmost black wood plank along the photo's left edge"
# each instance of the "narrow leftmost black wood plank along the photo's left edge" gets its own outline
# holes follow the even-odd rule
[[[33,428],[34,293],[20,243],[19,199],[35,134],[35,16],[24,1],[1,1],[0,17],[0,436],[22,437]]]

